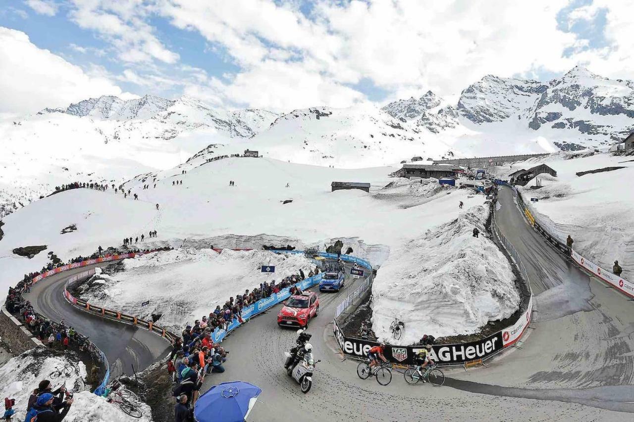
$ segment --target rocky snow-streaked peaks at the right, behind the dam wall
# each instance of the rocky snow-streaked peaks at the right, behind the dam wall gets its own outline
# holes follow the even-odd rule
[[[474,137],[496,145],[498,153],[491,155],[515,152],[518,139],[542,138],[561,150],[575,150],[618,143],[634,131],[634,82],[600,77],[583,67],[549,82],[486,75],[464,89],[455,105],[428,91],[383,110],[415,127],[452,132],[459,138],[458,151],[466,152]],[[500,151],[496,141],[503,138],[508,146]],[[479,149],[488,155],[480,142]]]

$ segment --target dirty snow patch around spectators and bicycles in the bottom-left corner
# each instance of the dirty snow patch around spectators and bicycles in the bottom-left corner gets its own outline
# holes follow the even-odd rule
[[[22,421],[26,415],[29,396],[39,382],[50,380],[51,372],[66,365],[73,366],[75,373],[65,380],[52,380],[53,388],[60,387],[65,381],[66,387],[71,390],[77,377],[86,377],[86,367],[82,362],[70,361],[65,356],[55,356],[46,349],[36,348],[24,352],[0,368],[0,397],[15,399],[13,409],[16,411],[16,422]],[[140,404],[143,416],[140,419],[132,418],[120,411],[119,407],[108,403],[105,398],[97,397],[89,391],[75,392],[74,399],[64,422],[149,422],[152,416],[150,407]]]

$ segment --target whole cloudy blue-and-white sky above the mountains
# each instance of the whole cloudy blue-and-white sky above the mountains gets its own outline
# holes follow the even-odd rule
[[[634,79],[632,16],[630,0],[0,0],[0,112],[146,93],[383,104],[577,64]]]

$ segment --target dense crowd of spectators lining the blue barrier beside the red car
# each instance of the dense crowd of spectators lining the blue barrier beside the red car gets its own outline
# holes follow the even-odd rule
[[[315,267],[308,274],[309,277],[317,274],[319,268]],[[174,397],[178,397],[174,414],[177,421],[191,412],[200,395],[200,387],[205,376],[210,373],[223,373],[224,362],[227,360],[228,351],[217,345],[212,340],[212,333],[216,328],[227,329],[231,321],[237,319],[241,324],[242,309],[262,298],[270,297],[281,289],[291,286],[291,294],[301,294],[301,290],[294,285],[305,278],[304,271],[299,274],[287,276],[279,283],[271,280],[270,283],[260,283],[259,288],[252,291],[245,290],[242,295],[230,297],[224,305],[217,305],[216,309],[209,312],[209,316],[194,321],[193,326],[187,325],[181,338],[176,340],[172,352],[167,361],[167,370],[172,376],[172,381],[177,383],[172,389]],[[181,419],[179,419],[181,418]]]

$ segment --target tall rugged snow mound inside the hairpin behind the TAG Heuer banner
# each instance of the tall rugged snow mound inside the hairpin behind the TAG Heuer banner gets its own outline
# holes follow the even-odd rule
[[[373,329],[391,339],[395,317],[405,323],[401,344],[424,334],[477,333],[489,321],[510,317],[520,304],[515,276],[485,233],[488,208],[477,206],[458,219],[413,238],[380,269],[372,293]],[[474,227],[481,232],[472,235]]]

